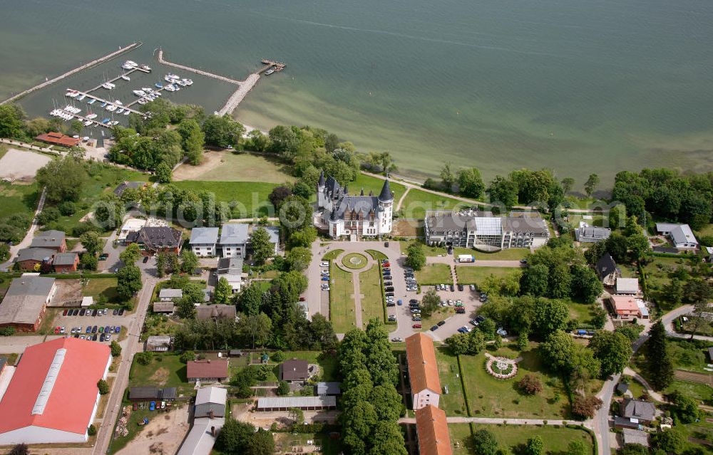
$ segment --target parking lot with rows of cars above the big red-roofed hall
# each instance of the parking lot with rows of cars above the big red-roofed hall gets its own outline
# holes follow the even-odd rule
[[[115,312],[116,314],[114,314]],[[121,310],[112,310],[111,308],[63,310],[54,320],[53,333],[70,335],[81,340],[100,342],[118,340],[120,333],[125,332],[129,322],[128,315],[119,313],[122,313]]]

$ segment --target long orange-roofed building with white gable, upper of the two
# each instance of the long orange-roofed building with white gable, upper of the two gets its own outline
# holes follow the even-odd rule
[[[411,403],[414,409],[429,404],[438,407],[441,398],[441,378],[438,376],[434,340],[425,333],[406,338],[406,360],[411,381]]]

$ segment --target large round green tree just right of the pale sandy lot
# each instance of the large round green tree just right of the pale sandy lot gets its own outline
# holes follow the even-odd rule
[[[88,174],[84,164],[70,157],[53,159],[37,171],[37,182],[47,192],[49,202],[77,201]]]

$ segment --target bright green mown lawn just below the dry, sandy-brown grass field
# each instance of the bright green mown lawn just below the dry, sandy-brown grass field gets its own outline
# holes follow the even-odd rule
[[[233,218],[276,216],[275,208],[267,199],[272,189],[277,187],[275,183],[183,180],[173,184],[180,189],[190,189],[194,192],[205,190],[214,194],[217,203],[225,202],[230,205]]]

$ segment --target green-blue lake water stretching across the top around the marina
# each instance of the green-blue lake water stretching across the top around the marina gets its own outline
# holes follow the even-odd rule
[[[314,125],[401,173],[443,162],[484,176],[550,167],[581,185],[598,172],[713,169],[713,2],[709,0],[0,0],[0,98],[133,41],[122,57],[166,58],[238,79],[287,63],[235,115],[267,129]],[[21,104],[62,103],[116,61]],[[162,72],[163,71],[163,72]],[[180,72],[179,72],[180,73]],[[207,112],[233,89],[196,75],[170,99]],[[130,88],[113,90],[130,97]],[[124,90],[122,93],[120,90]],[[112,93],[114,95],[115,93]],[[123,99],[123,98],[120,98]]]

